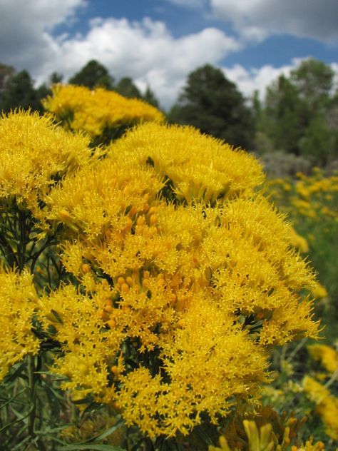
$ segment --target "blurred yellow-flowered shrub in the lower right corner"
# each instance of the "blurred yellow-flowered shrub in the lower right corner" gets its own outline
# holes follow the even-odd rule
[[[292,411],[295,419],[303,419],[302,427],[289,434],[290,445],[305,442],[311,435],[324,443],[325,449],[336,449],[337,363],[337,350],[328,345],[307,344],[307,340],[302,340],[297,346],[285,345],[274,354],[275,380],[263,390],[263,403],[267,406],[265,408],[273,405],[277,416]],[[272,423],[275,432],[280,429],[269,418],[260,422]],[[278,432],[279,437],[283,435],[281,432]]]

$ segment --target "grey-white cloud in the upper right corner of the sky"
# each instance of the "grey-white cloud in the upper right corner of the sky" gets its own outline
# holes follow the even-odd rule
[[[246,40],[291,34],[338,42],[337,0],[210,0],[210,6]]]

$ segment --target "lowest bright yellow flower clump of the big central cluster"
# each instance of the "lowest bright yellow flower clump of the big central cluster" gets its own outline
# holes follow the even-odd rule
[[[150,436],[185,435],[200,424],[202,412],[217,422],[217,415],[227,414],[234,393],[255,398],[257,381],[265,379],[260,349],[231,325],[228,315],[200,300],[184,319],[183,327],[160,334],[160,357],[170,383],[143,367],[121,377],[123,417]]]

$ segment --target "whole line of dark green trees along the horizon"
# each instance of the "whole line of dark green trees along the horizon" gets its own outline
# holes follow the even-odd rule
[[[31,108],[43,112],[41,98],[51,84],[63,80],[51,74],[47,83],[34,88],[28,71],[0,64],[0,111]],[[115,81],[103,64],[88,61],[68,83],[102,86],[130,98],[142,98],[159,107],[150,86],[141,93],[133,79]],[[266,158],[291,158],[290,166],[328,166],[338,159],[338,88],[334,71],[316,59],[302,61],[289,76],[280,75],[267,87],[265,98],[255,92],[245,98],[220,69],[206,64],[192,71],[178,100],[166,113],[171,123],[193,125],[203,133],[240,146]],[[293,158],[293,159],[292,159]]]

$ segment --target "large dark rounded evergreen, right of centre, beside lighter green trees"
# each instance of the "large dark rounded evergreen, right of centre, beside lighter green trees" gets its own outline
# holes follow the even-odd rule
[[[191,72],[170,121],[190,124],[203,133],[234,146],[252,147],[253,120],[250,108],[220,69],[209,64]]]

